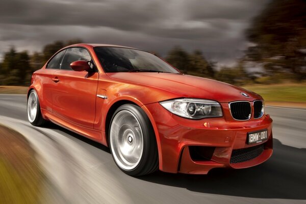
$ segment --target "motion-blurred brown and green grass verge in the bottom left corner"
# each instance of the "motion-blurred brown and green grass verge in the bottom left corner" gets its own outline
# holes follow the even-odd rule
[[[43,177],[28,141],[0,125],[0,203],[39,203]]]

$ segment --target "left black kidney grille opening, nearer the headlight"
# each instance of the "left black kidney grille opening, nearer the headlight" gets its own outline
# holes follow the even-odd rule
[[[230,103],[231,114],[236,120],[248,120],[251,117],[251,104],[248,101]]]

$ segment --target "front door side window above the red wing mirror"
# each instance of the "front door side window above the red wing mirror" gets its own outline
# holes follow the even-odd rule
[[[71,62],[78,60],[91,61],[88,51],[82,47],[68,48],[63,58],[61,69],[72,70],[70,67]]]

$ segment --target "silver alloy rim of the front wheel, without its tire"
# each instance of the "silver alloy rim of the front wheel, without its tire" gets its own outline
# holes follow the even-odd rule
[[[139,164],[143,153],[143,135],[136,116],[127,110],[119,111],[110,129],[110,145],[116,164],[132,170]]]

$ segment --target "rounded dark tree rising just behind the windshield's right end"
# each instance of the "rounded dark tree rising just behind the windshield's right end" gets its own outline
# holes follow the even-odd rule
[[[180,46],[174,46],[168,53],[166,61],[183,73],[190,71],[189,54]]]

